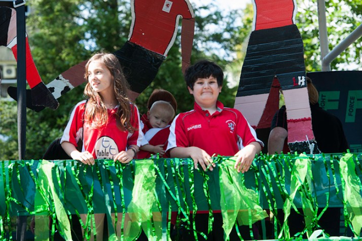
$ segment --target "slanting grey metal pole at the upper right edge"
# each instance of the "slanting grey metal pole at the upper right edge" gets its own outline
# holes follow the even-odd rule
[[[348,46],[362,36],[362,24],[360,24],[353,32],[351,32],[339,45],[337,45],[329,54],[322,59],[322,68],[329,66],[331,62],[337,58]],[[331,67],[330,67],[331,68]]]

